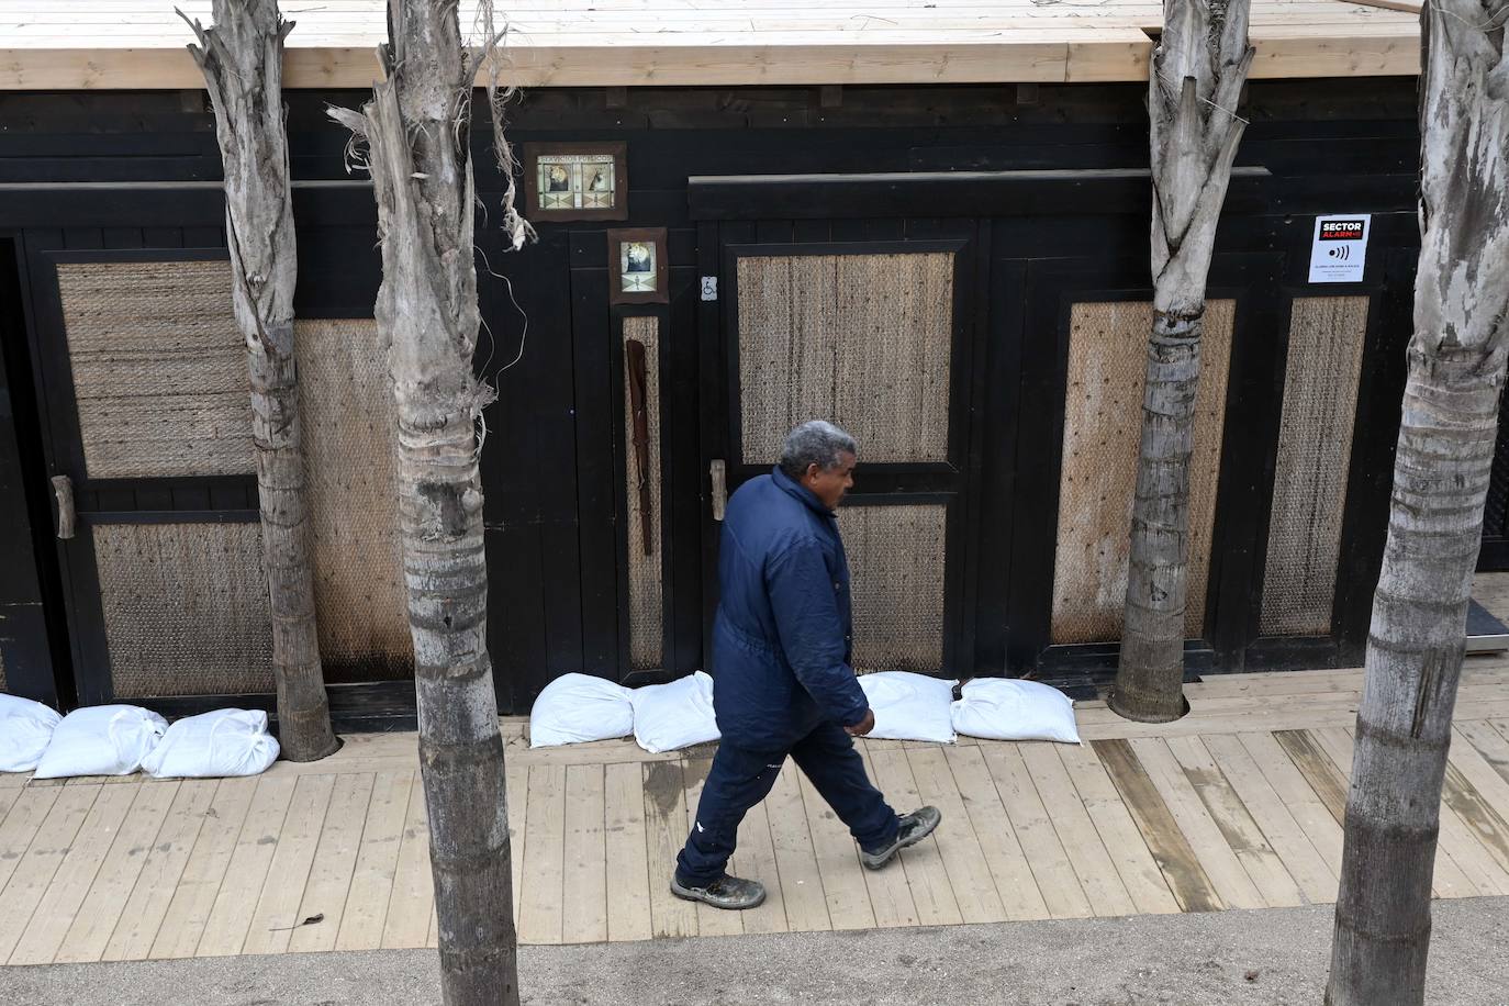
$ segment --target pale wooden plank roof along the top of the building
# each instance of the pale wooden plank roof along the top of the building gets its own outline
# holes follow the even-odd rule
[[[1391,0],[1406,6],[1403,0]],[[0,89],[199,87],[174,8],[210,0],[0,0]],[[284,0],[290,87],[367,87],[383,0]],[[498,0],[524,86],[1147,80],[1157,0]],[[475,0],[462,0],[463,24]],[[480,32],[478,32],[480,33]],[[1252,0],[1254,78],[1418,72],[1415,15]]]

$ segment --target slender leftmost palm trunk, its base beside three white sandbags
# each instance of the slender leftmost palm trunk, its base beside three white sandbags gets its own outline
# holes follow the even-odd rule
[[[314,762],[340,747],[320,667],[314,569],[303,504],[293,294],[299,275],[282,53],[293,29],[276,0],[214,0],[214,26],[190,23],[189,50],[214,103],[225,163],[225,229],[232,305],[246,339],[252,440],[263,511],[263,558],[273,620],[278,739],[284,757]]]

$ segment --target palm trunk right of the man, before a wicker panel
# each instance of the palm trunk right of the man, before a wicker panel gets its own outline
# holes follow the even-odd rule
[[[1121,658],[1109,704],[1129,719],[1185,715],[1189,454],[1206,276],[1242,128],[1236,104],[1252,62],[1248,0],[1165,0],[1153,51],[1153,330],[1132,505]]]

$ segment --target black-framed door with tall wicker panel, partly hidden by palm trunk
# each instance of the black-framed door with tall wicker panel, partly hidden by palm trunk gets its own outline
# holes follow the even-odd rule
[[[1248,537],[1277,421],[1265,382],[1280,268],[1275,255],[1212,267],[1191,459],[1191,673],[1245,638]],[[1020,282],[1016,460],[990,501],[1011,558],[990,636],[1003,638],[1008,673],[1073,683],[1115,668],[1151,291],[1145,261],[1105,256],[1029,261]]]

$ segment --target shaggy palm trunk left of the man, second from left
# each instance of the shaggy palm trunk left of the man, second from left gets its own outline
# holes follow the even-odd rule
[[[361,113],[382,234],[377,326],[398,412],[398,510],[445,1003],[519,1001],[472,374],[471,95],[454,3],[389,0],[386,80]]]

